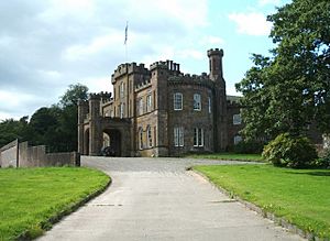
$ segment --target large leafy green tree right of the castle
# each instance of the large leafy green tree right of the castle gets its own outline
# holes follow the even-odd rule
[[[237,84],[246,108],[243,134],[304,135],[311,122],[330,133],[330,1],[294,0],[268,21],[272,56],[253,55],[254,66]]]

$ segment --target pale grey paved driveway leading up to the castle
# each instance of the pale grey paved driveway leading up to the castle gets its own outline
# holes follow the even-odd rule
[[[111,175],[112,185],[40,240],[302,240],[185,171],[226,162],[82,157],[81,163]]]

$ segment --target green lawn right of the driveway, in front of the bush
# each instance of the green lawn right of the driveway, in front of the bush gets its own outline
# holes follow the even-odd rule
[[[196,166],[217,186],[302,230],[330,238],[330,169],[271,165]]]

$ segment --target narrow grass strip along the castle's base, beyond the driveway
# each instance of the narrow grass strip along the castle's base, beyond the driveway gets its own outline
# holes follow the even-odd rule
[[[211,160],[232,160],[232,161],[248,161],[248,162],[263,162],[260,154],[238,154],[238,153],[211,153],[211,154],[194,154],[187,157],[193,158],[211,158]]]

